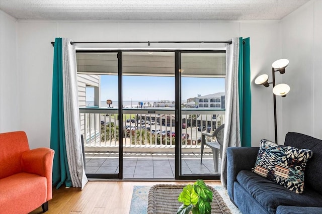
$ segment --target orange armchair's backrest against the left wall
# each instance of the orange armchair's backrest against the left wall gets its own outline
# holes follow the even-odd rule
[[[21,154],[29,150],[25,132],[0,134],[0,179],[21,172]]]

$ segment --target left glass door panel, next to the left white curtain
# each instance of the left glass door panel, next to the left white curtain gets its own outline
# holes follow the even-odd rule
[[[78,105],[89,178],[117,178],[118,57],[111,52],[77,50]]]

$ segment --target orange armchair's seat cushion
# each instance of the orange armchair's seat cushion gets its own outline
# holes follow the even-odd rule
[[[30,212],[46,202],[46,195],[46,177],[22,172],[0,179],[2,213]]]

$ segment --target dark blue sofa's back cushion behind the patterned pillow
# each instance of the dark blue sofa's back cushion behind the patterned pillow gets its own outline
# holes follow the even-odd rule
[[[305,186],[309,186],[322,194],[322,140],[300,133],[289,132],[285,136],[284,145],[298,149],[310,149],[313,152],[311,159],[307,161],[305,174]]]

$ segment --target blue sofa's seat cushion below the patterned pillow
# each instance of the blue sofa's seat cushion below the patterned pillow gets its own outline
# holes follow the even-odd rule
[[[320,206],[322,204],[322,195],[314,190],[305,188],[302,194],[297,194],[250,170],[241,170],[236,179],[270,213],[275,213],[279,205]]]

